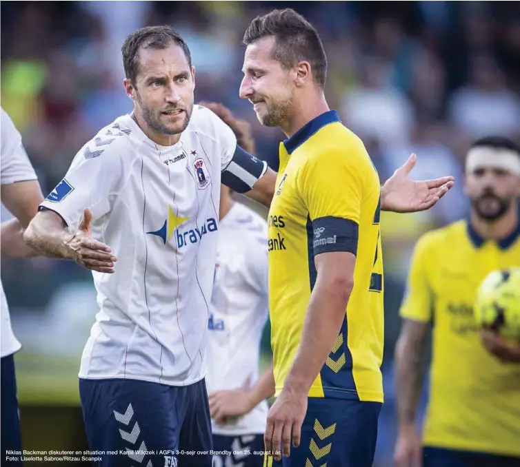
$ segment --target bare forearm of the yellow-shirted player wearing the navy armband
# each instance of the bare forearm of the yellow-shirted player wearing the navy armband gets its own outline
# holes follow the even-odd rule
[[[350,293],[350,291],[349,291]],[[296,358],[284,384],[294,391],[308,392],[339,335],[348,303],[347,292],[338,293],[317,281],[303,324]]]

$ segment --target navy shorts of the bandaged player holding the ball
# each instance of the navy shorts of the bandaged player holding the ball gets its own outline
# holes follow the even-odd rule
[[[467,450],[423,448],[423,467],[519,467],[519,457],[474,453]]]

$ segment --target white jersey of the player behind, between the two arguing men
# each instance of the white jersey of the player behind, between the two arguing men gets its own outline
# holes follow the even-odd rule
[[[252,385],[259,377],[260,341],[268,319],[267,223],[235,203],[219,225],[217,268],[208,321],[208,393]],[[217,435],[261,434],[267,401],[226,425]]]

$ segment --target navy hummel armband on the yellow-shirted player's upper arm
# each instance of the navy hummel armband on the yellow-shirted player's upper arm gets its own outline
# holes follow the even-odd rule
[[[357,254],[359,226],[350,219],[325,216],[312,221],[314,256],[330,251]]]

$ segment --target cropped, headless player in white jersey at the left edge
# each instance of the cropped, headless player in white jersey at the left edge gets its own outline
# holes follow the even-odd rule
[[[21,143],[21,135],[11,118],[1,109],[0,178],[1,202],[14,218],[1,223],[1,254],[19,258],[33,256],[34,251],[23,241],[23,231],[37,213],[43,200],[40,185]],[[6,450],[21,451],[17,384],[14,374],[14,353],[21,348],[12,332],[6,295],[0,282],[1,309],[1,446],[2,459]],[[12,459],[17,456],[11,456]],[[2,461],[2,462],[3,462]],[[21,466],[11,460],[10,465]]]

